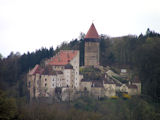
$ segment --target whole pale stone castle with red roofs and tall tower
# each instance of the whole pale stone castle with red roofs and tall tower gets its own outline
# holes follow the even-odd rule
[[[92,23],[85,36],[85,66],[99,66],[99,35]],[[27,87],[30,98],[54,98],[71,100],[83,93],[99,97],[112,97],[117,92],[138,95],[141,93],[141,83],[134,79],[130,84],[123,84],[108,70],[99,81],[84,79],[79,74],[79,51],[61,50],[55,56],[45,61],[44,66],[35,65],[27,74]],[[124,74],[122,74],[124,76]]]

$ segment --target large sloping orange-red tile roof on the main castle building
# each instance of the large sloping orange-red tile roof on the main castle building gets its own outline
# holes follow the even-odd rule
[[[77,53],[77,50],[61,50],[56,56],[51,58],[48,65],[66,65],[77,55]]]

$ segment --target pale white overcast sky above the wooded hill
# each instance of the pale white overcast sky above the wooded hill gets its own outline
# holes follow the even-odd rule
[[[56,48],[86,33],[94,20],[99,34],[160,33],[159,0],[0,0],[0,53]]]

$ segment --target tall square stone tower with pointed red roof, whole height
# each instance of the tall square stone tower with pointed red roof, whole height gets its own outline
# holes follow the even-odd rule
[[[85,66],[99,65],[99,35],[92,23],[85,36]]]

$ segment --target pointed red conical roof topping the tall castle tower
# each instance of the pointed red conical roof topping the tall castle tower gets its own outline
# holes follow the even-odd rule
[[[93,23],[92,23],[91,27],[89,28],[85,38],[94,38],[94,39],[99,38],[98,32],[97,32]]]

